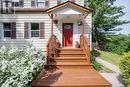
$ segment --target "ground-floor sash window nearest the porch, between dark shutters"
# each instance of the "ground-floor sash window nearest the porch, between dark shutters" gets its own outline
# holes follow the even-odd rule
[[[39,37],[39,23],[31,23],[31,37]]]

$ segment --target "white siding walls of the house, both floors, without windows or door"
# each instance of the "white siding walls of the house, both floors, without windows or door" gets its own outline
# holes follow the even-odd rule
[[[83,5],[84,0],[76,0],[76,3]],[[50,7],[57,5],[56,0],[50,0]],[[31,7],[31,0],[25,0],[24,8]],[[85,19],[85,33],[89,39],[91,45],[91,14]],[[3,22],[16,22],[16,39],[3,38],[2,23]],[[30,38],[24,39],[24,22],[44,22],[45,23],[45,39],[40,38]],[[54,34],[58,37],[62,43],[62,23],[73,23],[73,46],[75,41],[79,41],[82,26],[77,25],[77,20],[72,21],[59,21],[58,26],[54,24]],[[46,50],[46,44],[51,33],[51,19],[47,13],[29,13],[29,14],[0,14],[0,46],[18,46],[20,48],[26,47],[29,43],[32,43],[37,48],[42,48]]]

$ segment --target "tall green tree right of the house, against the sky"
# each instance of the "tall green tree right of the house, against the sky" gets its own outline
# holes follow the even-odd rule
[[[93,42],[97,42],[100,48],[103,48],[106,34],[111,31],[119,31],[117,26],[127,24],[129,21],[119,20],[125,13],[123,6],[114,6],[115,0],[85,0],[86,4],[93,9]]]

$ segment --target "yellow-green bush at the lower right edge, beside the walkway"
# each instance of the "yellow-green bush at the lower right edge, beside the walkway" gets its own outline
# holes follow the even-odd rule
[[[120,63],[120,69],[128,87],[130,87],[130,51],[123,55]]]

